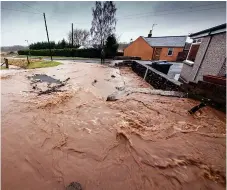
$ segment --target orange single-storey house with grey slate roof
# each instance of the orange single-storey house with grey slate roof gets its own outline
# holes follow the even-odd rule
[[[142,60],[176,61],[182,52],[187,36],[140,36],[124,50],[124,56],[141,57]]]

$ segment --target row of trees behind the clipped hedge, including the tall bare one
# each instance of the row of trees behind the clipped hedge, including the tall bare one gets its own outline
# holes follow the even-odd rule
[[[118,43],[115,35],[116,27],[116,5],[112,1],[96,1],[92,8],[93,20],[90,31],[76,28],[68,32],[67,40],[62,39],[55,43],[54,41],[37,42],[29,45],[31,50],[40,49],[65,49],[65,48],[85,48],[104,49],[107,54],[114,54],[118,49]],[[73,41],[73,46],[72,46]]]

